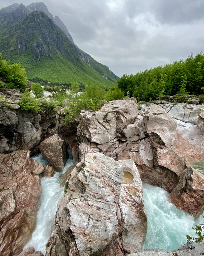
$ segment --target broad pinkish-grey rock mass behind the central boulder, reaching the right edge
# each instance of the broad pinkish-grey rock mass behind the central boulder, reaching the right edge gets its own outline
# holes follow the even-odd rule
[[[193,124],[177,125],[161,106],[146,107],[143,117],[135,105],[126,99],[109,102],[101,112],[83,111],[78,127],[79,157],[101,152],[115,160],[131,159],[143,182],[173,191],[170,200],[180,209],[203,212],[204,176],[189,168],[188,159],[204,159],[204,133]],[[193,109],[200,112],[197,107]]]

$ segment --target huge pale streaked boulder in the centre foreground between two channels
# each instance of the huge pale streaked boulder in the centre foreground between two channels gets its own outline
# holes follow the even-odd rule
[[[133,161],[90,153],[58,203],[46,255],[125,255],[141,250],[147,219]]]

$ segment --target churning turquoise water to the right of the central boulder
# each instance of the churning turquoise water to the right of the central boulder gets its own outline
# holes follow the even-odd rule
[[[160,187],[143,184],[144,206],[147,213],[147,237],[143,249],[176,250],[186,243],[186,235],[195,237],[192,226],[202,224],[203,218],[179,210],[168,202],[169,193]]]

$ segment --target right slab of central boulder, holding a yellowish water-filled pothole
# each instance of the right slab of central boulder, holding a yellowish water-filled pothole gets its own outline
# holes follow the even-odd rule
[[[146,238],[147,217],[143,204],[143,187],[140,174],[132,160],[119,160],[118,163],[122,165],[124,173],[119,198],[125,224],[121,233],[122,248],[131,253],[141,250]]]

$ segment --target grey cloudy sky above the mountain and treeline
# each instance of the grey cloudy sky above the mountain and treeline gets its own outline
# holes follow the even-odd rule
[[[29,5],[33,1],[16,1]],[[44,0],[74,43],[118,76],[204,51],[203,0]],[[13,4],[0,0],[0,8]]]

